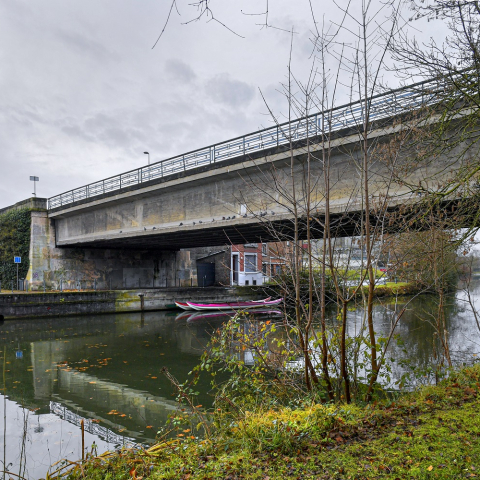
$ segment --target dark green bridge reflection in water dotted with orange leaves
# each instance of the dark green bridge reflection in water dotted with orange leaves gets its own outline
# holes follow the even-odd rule
[[[186,378],[212,330],[209,324],[187,326],[174,319],[167,312],[151,312],[8,322],[1,329],[7,354],[23,352],[22,359],[12,358],[10,376],[16,384],[9,397],[43,413],[53,400],[100,420],[120,438],[123,432],[152,440],[178,407],[161,367]],[[107,357],[113,359],[106,363]],[[206,397],[199,403],[206,404]],[[113,409],[117,415],[109,414]]]

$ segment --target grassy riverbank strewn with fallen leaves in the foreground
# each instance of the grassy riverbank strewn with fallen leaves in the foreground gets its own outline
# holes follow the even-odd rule
[[[480,365],[371,405],[245,412],[208,440],[184,428],[150,450],[91,457],[69,479],[480,477]]]

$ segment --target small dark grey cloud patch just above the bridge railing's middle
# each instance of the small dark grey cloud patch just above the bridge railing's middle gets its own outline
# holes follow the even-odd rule
[[[255,96],[254,87],[228,74],[216,75],[207,82],[205,89],[214,101],[231,107],[246,106]]]

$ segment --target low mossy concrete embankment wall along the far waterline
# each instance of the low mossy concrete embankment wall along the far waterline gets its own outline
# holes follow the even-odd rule
[[[247,297],[243,294],[241,298]],[[167,310],[175,306],[175,300],[228,302],[238,299],[232,287],[2,293],[0,319]]]

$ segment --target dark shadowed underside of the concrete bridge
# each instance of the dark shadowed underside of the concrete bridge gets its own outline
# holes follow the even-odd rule
[[[411,206],[393,206],[382,213],[372,213],[370,223],[377,234],[398,233],[402,231],[423,231],[433,225],[445,228],[466,228],[476,226],[480,199],[470,198],[460,201],[445,201],[435,207],[423,203]],[[426,215],[425,212],[430,214]],[[283,218],[260,217],[239,219],[239,221],[218,222],[215,224],[184,225],[171,231],[142,231],[123,238],[96,238],[94,240],[79,239],[68,247],[85,248],[133,248],[171,250],[195,247],[211,247],[218,245],[239,245],[245,243],[265,243],[293,241],[295,238],[295,221],[291,216]],[[231,223],[235,222],[235,223]],[[230,224],[228,224],[230,223]],[[299,219],[298,238],[307,238],[306,217]],[[362,235],[364,212],[334,213],[330,215],[330,234],[332,237],[353,237]],[[323,238],[325,232],[325,215],[310,217],[310,237]],[[61,247],[62,245],[58,245]]]

